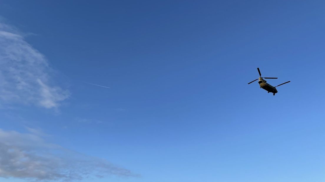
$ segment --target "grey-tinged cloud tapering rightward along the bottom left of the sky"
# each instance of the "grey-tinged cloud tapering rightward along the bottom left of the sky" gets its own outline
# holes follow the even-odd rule
[[[103,159],[69,151],[30,133],[0,129],[0,177],[41,181],[73,181],[108,175],[136,176]],[[35,132],[37,131],[37,132]]]

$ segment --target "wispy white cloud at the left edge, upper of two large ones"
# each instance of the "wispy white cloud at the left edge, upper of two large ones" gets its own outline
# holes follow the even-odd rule
[[[70,93],[52,84],[51,73],[45,56],[0,19],[0,100],[58,108]]]

